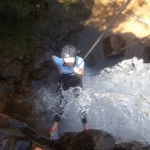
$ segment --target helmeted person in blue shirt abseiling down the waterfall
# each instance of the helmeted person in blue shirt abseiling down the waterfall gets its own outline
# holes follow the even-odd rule
[[[77,103],[79,114],[83,123],[83,130],[88,130],[87,126],[87,112],[85,110],[82,98],[82,77],[84,76],[84,61],[81,57],[77,56],[74,46],[66,45],[61,50],[61,58],[53,55],[52,61],[60,72],[59,78],[59,92],[60,101],[56,109],[54,124],[50,130],[50,138],[53,140],[58,139],[57,128],[58,122],[62,118],[67,100],[65,99],[65,92],[73,88],[75,101]]]

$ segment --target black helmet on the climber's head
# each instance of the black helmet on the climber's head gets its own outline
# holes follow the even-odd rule
[[[76,48],[72,45],[66,45],[61,50],[62,58],[76,57],[76,55],[77,55]]]

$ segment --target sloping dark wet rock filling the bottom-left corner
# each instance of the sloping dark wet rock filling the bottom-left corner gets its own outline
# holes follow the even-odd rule
[[[40,135],[25,123],[0,113],[1,150],[50,150],[54,141]]]

